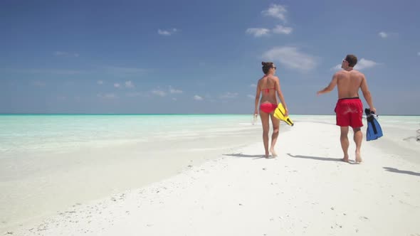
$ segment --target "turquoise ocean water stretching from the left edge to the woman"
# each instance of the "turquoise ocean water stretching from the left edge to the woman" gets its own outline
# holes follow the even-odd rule
[[[249,115],[0,115],[0,158],[255,129]]]

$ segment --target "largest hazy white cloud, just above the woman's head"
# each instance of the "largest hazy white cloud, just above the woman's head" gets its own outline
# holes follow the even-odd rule
[[[317,58],[301,53],[298,48],[290,46],[272,48],[263,53],[263,58],[278,61],[285,67],[295,70],[308,71],[317,66]]]

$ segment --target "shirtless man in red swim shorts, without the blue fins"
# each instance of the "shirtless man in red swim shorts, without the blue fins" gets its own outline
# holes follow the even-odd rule
[[[342,60],[341,70],[332,76],[330,85],[325,89],[317,92],[317,95],[322,95],[327,92],[331,92],[335,85],[338,90],[338,102],[335,107],[337,126],[341,129],[340,141],[344,158],[342,161],[349,161],[349,139],[347,134],[349,132],[349,126],[352,127],[355,133],[353,139],[356,143],[356,162],[362,162],[362,156],[360,156],[360,146],[362,146],[363,134],[360,127],[363,126],[362,114],[363,104],[359,99],[359,88],[362,90],[363,97],[371,111],[376,113],[376,109],[373,106],[372,96],[370,95],[367,87],[366,78],[362,73],[353,68],[357,64],[357,57],[355,55],[347,55],[345,60]]]

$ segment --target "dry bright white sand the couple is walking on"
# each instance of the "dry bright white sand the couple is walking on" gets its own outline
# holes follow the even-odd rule
[[[276,159],[258,158],[259,142],[13,233],[420,235],[420,164],[384,150],[364,141],[364,163],[344,163],[337,127],[299,122],[280,132]]]

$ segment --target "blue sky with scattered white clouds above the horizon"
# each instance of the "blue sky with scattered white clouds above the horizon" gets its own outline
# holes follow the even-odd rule
[[[261,61],[291,114],[348,53],[379,114],[420,114],[419,1],[0,2],[2,113],[251,114]],[[364,103],[366,104],[366,103]]]

